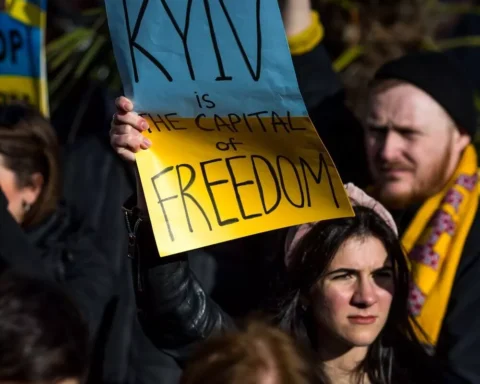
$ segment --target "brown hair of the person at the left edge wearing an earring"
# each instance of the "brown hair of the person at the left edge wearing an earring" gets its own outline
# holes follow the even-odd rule
[[[0,154],[16,175],[18,187],[40,173],[42,191],[26,213],[22,226],[38,224],[57,207],[61,196],[61,167],[57,137],[50,123],[34,108],[23,104],[0,105]]]

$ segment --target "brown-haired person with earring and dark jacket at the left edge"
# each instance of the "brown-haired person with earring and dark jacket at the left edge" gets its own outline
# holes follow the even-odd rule
[[[33,268],[43,269],[44,277],[62,283],[87,321],[93,346],[112,296],[113,273],[91,239],[89,223],[62,200],[57,138],[34,109],[0,106],[0,189],[11,218],[23,230],[12,230],[16,244],[8,242],[3,252],[10,260],[18,253]],[[23,254],[28,249],[33,252]]]

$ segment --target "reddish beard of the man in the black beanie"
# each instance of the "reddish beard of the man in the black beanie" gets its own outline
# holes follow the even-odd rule
[[[450,161],[450,147],[440,161],[431,166],[424,175],[415,175],[411,179],[409,188],[401,192],[391,192],[385,187],[386,181],[378,180],[376,183],[376,198],[389,209],[404,209],[413,204],[423,203],[439,192],[448,181],[448,165]],[[395,168],[394,166],[391,168]],[[400,167],[398,167],[400,168]],[[415,170],[411,170],[415,172]],[[380,176],[381,178],[381,176]]]

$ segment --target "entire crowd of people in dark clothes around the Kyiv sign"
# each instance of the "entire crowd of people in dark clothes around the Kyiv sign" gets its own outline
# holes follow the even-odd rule
[[[0,106],[0,383],[480,382],[463,66],[439,52],[386,63],[359,120],[310,0],[282,14],[355,216],[160,258],[131,100],[115,102],[108,155],[92,140],[60,145],[31,107]]]

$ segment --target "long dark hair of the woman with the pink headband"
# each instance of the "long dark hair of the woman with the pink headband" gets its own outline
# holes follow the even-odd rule
[[[315,224],[299,242],[288,267],[283,263],[283,267],[277,268],[272,293],[276,321],[304,345],[315,347],[313,313],[311,309],[302,308],[300,297],[308,296],[311,287],[324,275],[348,239],[373,236],[382,242],[391,259],[395,293],[386,325],[370,346],[358,372],[366,373],[372,383],[417,382],[410,377],[409,368],[420,365],[422,358],[429,358],[408,314],[409,271],[401,243],[372,209],[357,206],[354,211],[355,217]],[[321,369],[319,372],[323,381],[328,381]]]

